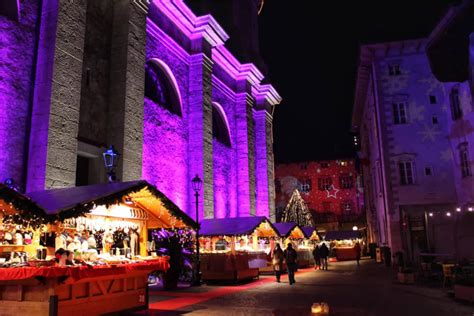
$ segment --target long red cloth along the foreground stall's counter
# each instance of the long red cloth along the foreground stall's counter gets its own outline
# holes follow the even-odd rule
[[[129,263],[107,266],[71,266],[71,267],[19,267],[0,268],[0,281],[24,280],[34,277],[56,278],[61,276],[72,277],[78,281],[85,278],[101,277],[114,274],[125,274],[132,271],[167,271],[167,258],[160,258],[141,263]]]

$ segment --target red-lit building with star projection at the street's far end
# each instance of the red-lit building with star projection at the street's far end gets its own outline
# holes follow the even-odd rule
[[[280,214],[298,189],[319,230],[363,224],[364,204],[353,159],[277,164],[276,209]],[[278,216],[277,216],[278,217]]]

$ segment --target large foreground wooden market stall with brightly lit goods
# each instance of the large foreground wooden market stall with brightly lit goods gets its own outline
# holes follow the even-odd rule
[[[0,231],[15,229],[23,248],[1,252],[2,315],[146,308],[148,274],[169,268],[167,257],[148,253],[147,230],[196,227],[145,181],[10,195],[0,191]]]

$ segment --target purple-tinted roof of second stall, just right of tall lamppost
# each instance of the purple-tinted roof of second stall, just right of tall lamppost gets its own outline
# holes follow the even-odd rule
[[[251,235],[256,230],[259,237],[276,237],[278,234],[264,216],[204,219],[200,224],[201,236]]]

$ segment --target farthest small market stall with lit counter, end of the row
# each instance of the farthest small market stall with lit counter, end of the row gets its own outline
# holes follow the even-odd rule
[[[338,261],[355,260],[357,257],[355,244],[362,242],[359,231],[353,230],[328,231],[324,240],[329,242],[330,253]]]

